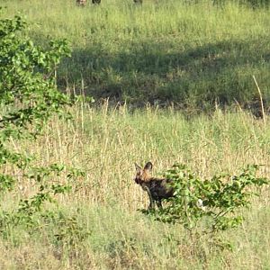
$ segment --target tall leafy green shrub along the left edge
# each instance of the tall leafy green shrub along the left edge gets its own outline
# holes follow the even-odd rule
[[[23,198],[17,209],[0,213],[3,233],[18,225],[37,228],[46,213],[44,203],[55,202],[56,194],[67,193],[73,179],[84,176],[58,164],[32,166],[34,157],[11,147],[13,140],[36,139],[52,115],[69,118],[65,107],[72,103],[55,84],[60,59],[70,55],[67,40],[51,40],[43,49],[25,37],[25,26],[20,16],[0,20],[0,195],[12,190],[18,177],[31,180],[37,193]],[[18,174],[9,173],[9,167]]]

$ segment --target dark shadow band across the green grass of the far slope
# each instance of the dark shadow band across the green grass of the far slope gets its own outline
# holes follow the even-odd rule
[[[59,84],[81,87],[95,98],[136,105],[178,103],[205,108],[213,103],[266,101],[270,85],[270,40],[226,40],[203,45],[178,40],[122,44],[110,52],[102,44],[75,49],[59,70]]]

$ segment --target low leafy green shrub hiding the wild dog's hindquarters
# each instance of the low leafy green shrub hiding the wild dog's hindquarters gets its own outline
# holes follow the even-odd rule
[[[257,177],[258,166],[247,166],[239,175],[214,175],[202,180],[184,165],[175,165],[165,177],[173,180],[175,196],[168,199],[165,208],[148,213],[157,220],[175,223],[193,229],[202,226],[204,232],[237,227],[243,216],[237,211],[250,204],[256,187],[268,184],[264,177]],[[200,222],[202,221],[202,222]]]

